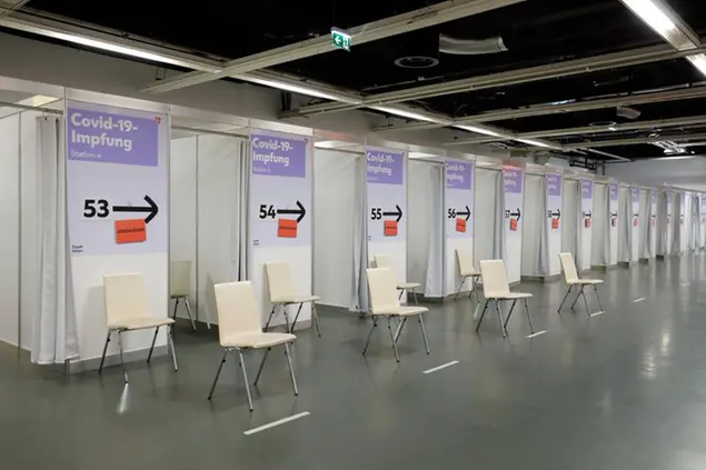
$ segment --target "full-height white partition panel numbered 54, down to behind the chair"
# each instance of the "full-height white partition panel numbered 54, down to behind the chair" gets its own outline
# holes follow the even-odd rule
[[[314,193],[312,139],[308,136],[252,130],[250,136],[248,280],[257,293],[262,323],[271,303],[265,276],[267,262],[288,262],[298,292],[311,292]],[[297,306],[290,306],[292,311]],[[305,304],[299,321],[311,319]],[[281,309],[271,326],[285,324]]]

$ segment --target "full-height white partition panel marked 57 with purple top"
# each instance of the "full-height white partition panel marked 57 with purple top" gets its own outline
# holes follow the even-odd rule
[[[520,168],[505,167],[503,169],[503,181],[505,188],[505,204],[503,210],[505,214],[505,240],[503,240],[504,243],[498,251],[503,253],[503,258],[505,259],[508,281],[510,283],[517,283],[521,279],[523,267],[525,172]]]

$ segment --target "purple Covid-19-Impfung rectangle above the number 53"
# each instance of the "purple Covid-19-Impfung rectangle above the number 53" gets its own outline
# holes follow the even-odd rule
[[[157,167],[161,116],[136,118],[81,109],[67,109],[69,160]]]

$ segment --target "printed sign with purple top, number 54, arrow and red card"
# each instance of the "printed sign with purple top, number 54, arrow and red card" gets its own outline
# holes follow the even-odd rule
[[[311,171],[306,137],[251,134],[251,246],[311,244]]]

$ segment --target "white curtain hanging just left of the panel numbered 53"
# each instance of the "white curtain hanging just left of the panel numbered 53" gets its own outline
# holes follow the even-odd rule
[[[62,120],[37,119],[41,191],[41,300],[32,319],[33,363],[62,363],[79,356],[71,256],[68,244],[66,152]]]

